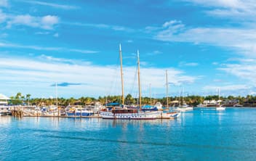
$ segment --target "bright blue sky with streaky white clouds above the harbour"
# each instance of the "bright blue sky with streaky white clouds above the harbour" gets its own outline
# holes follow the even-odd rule
[[[252,0],[0,0],[0,93],[32,97],[255,94]]]

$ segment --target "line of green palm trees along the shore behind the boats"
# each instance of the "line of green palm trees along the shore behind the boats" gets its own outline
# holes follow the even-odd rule
[[[256,96],[247,95],[247,96],[169,96],[169,103],[172,101],[185,102],[186,104],[190,104],[196,106],[197,104],[202,104],[204,100],[233,100],[236,99],[240,104],[244,104],[245,102],[256,102]],[[75,99],[73,97],[65,99],[65,98],[31,98],[31,94],[21,94],[18,92],[15,96],[10,96],[9,104],[27,104],[27,105],[38,105],[38,106],[49,106],[59,104],[60,106],[68,106],[68,105],[86,105],[92,104],[93,102],[100,102],[101,104],[116,102],[121,103],[121,96],[99,96],[97,99],[89,96],[81,96],[79,99]],[[125,104],[137,104],[138,99],[132,97],[131,94],[127,94],[124,100]],[[142,104],[155,104],[156,102],[161,102],[161,104],[167,104],[167,97],[163,98],[149,98],[142,97]]]

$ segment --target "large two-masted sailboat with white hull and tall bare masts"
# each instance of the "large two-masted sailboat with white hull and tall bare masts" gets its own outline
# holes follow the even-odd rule
[[[119,45],[120,63],[121,63],[121,90],[122,90],[122,103],[124,105],[124,80],[122,71],[122,58],[121,58],[121,44]],[[141,89],[140,89],[140,56],[137,51],[137,75],[138,75],[138,87],[139,87],[139,102],[140,108],[113,108],[111,111],[101,111],[100,115],[103,119],[129,119],[129,120],[154,120],[159,116],[159,112],[143,111],[141,106]]]

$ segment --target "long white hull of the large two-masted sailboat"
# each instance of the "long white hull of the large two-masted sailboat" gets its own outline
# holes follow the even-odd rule
[[[100,112],[103,119],[129,119],[129,120],[154,120],[159,117],[159,112],[116,113]]]

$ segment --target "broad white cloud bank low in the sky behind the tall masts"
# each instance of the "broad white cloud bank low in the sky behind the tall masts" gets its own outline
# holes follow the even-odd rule
[[[2,92],[5,94],[7,92],[7,95],[10,91],[21,90],[22,93],[31,93],[33,96],[41,96],[41,94],[50,96],[52,95],[51,92],[54,92],[50,85],[54,82],[84,84],[60,88],[60,96],[71,96],[71,91],[76,96],[103,96],[121,93],[119,90],[121,85],[119,83],[119,68],[112,65],[92,65],[88,62],[76,63],[76,61],[69,59],[41,55],[38,59],[35,57],[31,59],[1,57],[0,67],[0,81],[5,82],[4,86],[0,86]],[[124,88],[126,94],[132,88],[137,88],[137,83],[134,82],[135,71],[136,67],[134,66],[124,67]],[[169,83],[193,83],[196,80],[196,77],[185,75],[182,71],[173,68],[169,68],[168,73]],[[114,80],[116,82],[113,82]],[[153,88],[159,88],[164,91],[165,69],[142,67],[141,83],[143,88],[148,88],[148,83],[151,83]],[[33,86],[33,90],[26,88],[28,86]]]

